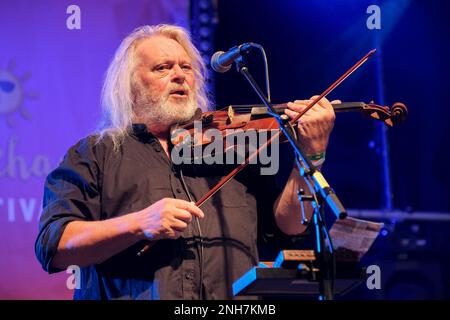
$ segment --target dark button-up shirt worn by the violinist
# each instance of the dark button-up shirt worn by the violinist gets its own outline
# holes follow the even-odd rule
[[[96,139],[92,135],[78,142],[47,177],[35,250],[50,273],[61,271],[51,262],[69,222],[114,218],[166,197],[189,200],[180,170],[197,201],[231,170],[174,166],[159,141],[139,125],[117,151],[110,138]],[[250,166],[202,205],[200,230],[193,220],[180,238],[156,241],[141,257],[137,252],[144,242],[81,268],[81,288],[74,298],[198,299],[201,278],[204,298],[233,298],[233,282],[258,263],[258,214],[273,218],[278,194],[273,176],[261,176]]]

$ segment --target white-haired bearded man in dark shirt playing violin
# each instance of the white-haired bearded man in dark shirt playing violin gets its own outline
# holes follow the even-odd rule
[[[269,208],[286,234],[304,231],[297,190],[307,187],[296,172],[279,194],[240,174],[195,206],[224,170],[173,165],[169,136],[207,107],[204,73],[177,26],[138,28],[117,50],[103,88],[103,130],[73,146],[45,185],[36,255],[50,273],[81,267],[74,298],[229,299],[232,283],[258,263],[257,209]],[[290,103],[286,114],[308,102]],[[308,154],[325,151],[333,122],[326,99],[301,118]]]

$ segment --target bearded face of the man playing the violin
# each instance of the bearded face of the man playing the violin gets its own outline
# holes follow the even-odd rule
[[[175,40],[154,36],[136,47],[136,114],[150,125],[189,120],[197,109],[192,61]]]

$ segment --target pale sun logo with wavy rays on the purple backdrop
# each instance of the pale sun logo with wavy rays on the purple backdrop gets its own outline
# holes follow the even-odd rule
[[[24,98],[34,100],[35,93],[25,92],[23,83],[31,74],[29,72],[22,76],[14,75],[15,62],[11,61],[6,69],[0,69],[0,115],[6,117],[9,127],[15,125],[13,115],[16,111],[26,120],[31,120],[31,116],[23,106]]]

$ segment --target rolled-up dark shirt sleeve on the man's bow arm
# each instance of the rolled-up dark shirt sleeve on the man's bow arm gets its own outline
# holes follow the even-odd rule
[[[94,144],[90,138],[81,140],[47,176],[35,253],[49,273],[62,271],[51,264],[67,224],[100,219],[99,162]]]

